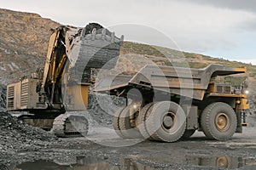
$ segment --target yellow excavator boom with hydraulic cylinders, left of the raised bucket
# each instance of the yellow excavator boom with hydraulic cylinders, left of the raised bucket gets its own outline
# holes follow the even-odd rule
[[[53,31],[49,38],[49,47],[44,63],[44,77],[41,84],[41,95],[49,105],[61,102],[61,81],[64,75],[64,67],[67,65],[66,37],[67,27],[61,26]],[[56,96],[56,97],[55,97]]]

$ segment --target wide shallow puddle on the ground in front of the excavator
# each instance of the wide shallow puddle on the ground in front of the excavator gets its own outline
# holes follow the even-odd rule
[[[25,162],[16,167],[16,170],[95,170],[95,169],[137,169],[137,170],[151,170],[152,168],[144,166],[143,164],[131,161],[131,159],[124,159],[121,165],[112,165],[108,161],[103,161],[93,157],[77,157],[75,164],[60,165],[55,161],[32,161]]]

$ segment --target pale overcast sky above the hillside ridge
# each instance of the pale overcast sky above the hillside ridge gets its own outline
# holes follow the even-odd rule
[[[0,7],[64,25],[98,22],[125,40],[256,65],[254,0],[8,0]]]

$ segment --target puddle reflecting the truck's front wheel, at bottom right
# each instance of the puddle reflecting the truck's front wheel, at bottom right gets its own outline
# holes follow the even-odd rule
[[[236,169],[239,167],[256,166],[255,159],[243,159],[242,157],[218,156],[218,157],[197,157],[186,156],[187,165],[195,165],[200,167],[224,167],[228,169]]]

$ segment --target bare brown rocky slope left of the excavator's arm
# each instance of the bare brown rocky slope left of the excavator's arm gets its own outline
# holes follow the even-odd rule
[[[38,14],[0,8],[0,82],[7,83],[44,65],[50,28],[58,23]]]

